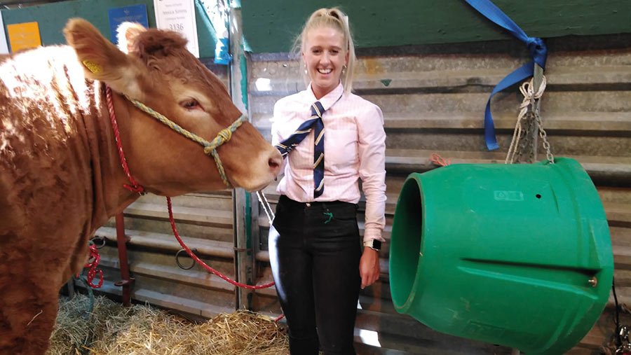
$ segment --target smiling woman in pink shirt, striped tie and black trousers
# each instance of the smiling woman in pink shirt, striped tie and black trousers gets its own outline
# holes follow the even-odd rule
[[[379,277],[386,203],[384,118],[351,93],[348,18],[315,11],[297,40],[308,88],[274,106],[273,144],[285,157],[269,253],[291,354],[355,354],[360,287]],[[361,248],[358,180],[366,196]]]

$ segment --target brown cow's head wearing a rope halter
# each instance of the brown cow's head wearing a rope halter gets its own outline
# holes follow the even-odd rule
[[[241,116],[225,85],[186,50],[186,40],[175,32],[121,25],[118,37],[124,52],[85,20],[69,20],[64,34],[88,78],[142,102],[203,139],[212,141]],[[127,118],[118,123],[125,155],[132,174],[147,190],[178,195],[225,188],[215,161],[202,146],[130,102],[116,102],[118,115]],[[247,190],[269,184],[282,161],[250,123],[241,125],[217,152],[230,183]]]

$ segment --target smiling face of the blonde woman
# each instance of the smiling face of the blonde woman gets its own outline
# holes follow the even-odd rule
[[[339,84],[342,69],[348,62],[346,47],[344,34],[333,27],[316,27],[306,34],[302,57],[316,99]]]

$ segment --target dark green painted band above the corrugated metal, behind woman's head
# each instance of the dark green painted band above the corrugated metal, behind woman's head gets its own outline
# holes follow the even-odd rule
[[[528,36],[631,33],[630,0],[493,0]],[[243,32],[254,53],[290,50],[315,9],[340,6],[358,48],[512,39],[463,0],[243,1]]]

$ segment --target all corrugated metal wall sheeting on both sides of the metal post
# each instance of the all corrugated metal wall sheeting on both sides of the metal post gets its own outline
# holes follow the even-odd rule
[[[541,104],[545,129],[557,156],[579,160],[595,181],[611,226],[616,281],[621,302],[631,302],[631,36],[591,36],[548,41],[548,88]],[[431,153],[460,162],[503,162],[517,108],[516,90],[493,102],[500,151],[488,152],[482,138],[482,113],[489,92],[503,76],[527,61],[513,41],[362,50],[356,92],[381,106],[386,118],[388,204],[384,237],[389,239],[398,192],[407,174],[434,169]],[[224,81],[224,67],[212,67]],[[304,88],[299,63],[286,54],[252,55],[248,64],[250,117],[269,139],[277,99]],[[540,152],[539,157],[545,155]],[[133,167],[132,167],[133,168]],[[265,193],[274,206],[275,186]],[[233,202],[231,194],[191,194],[173,199],[181,235],[213,267],[233,277]],[[363,204],[360,203],[360,221]],[[517,223],[519,221],[516,221]],[[361,223],[361,222],[360,222]],[[259,216],[261,240],[257,283],[271,281],[267,217]],[[97,235],[115,239],[113,222]],[[191,316],[230,312],[234,288],[195,266],[175,263],[179,245],[172,237],[163,197],[147,195],[125,210],[130,237],[130,267],[136,277],[133,298]],[[545,227],[543,227],[545,228]],[[116,246],[102,250],[104,291],[119,294]],[[397,314],[388,284],[388,244],[381,251],[381,278],[360,295],[356,335],[365,354],[510,354],[510,349],[442,335]],[[190,261],[182,258],[184,262]],[[279,314],[272,289],[256,291],[253,307]],[[613,302],[613,301],[612,301]],[[506,312],[510,312],[507,309]],[[607,309],[573,354],[589,354],[609,341],[613,323]],[[376,333],[374,333],[376,332]],[[376,337],[375,337],[376,335]],[[381,349],[370,344],[379,342]]]

